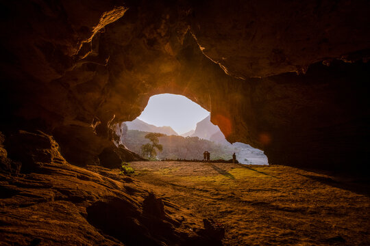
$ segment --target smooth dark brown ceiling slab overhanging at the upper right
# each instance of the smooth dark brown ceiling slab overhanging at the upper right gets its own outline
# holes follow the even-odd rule
[[[366,1],[202,1],[191,31],[204,55],[234,77],[304,73],[369,49],[368,10]]]

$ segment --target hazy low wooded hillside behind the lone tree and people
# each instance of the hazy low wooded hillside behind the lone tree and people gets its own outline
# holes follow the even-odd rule
[[[127,131],[127,137],[123,139],[123,143],[130,150],[136,153],[141,152],[143,154],[142,146],[145,146],[147,143],[150,144],[150,140],[145,138],[147,134],[147,132],[129,130]],[[230,148],[219,143],[214,143],[213,141],[208,141],[206,139],[199,139],[199,137],[162,135],[162,137],[158,137],[158,140],[158,143],[162,145],[162,152],[158,154],[158,158],[161,160],[202,160],[203,152],[205,150],[208,150],[208,152],[210,152],[211,160],[230,160],[232,158],[232,153],[235,152],[234,148]]]

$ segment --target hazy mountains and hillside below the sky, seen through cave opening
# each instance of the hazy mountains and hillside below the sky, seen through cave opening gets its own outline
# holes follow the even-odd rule
[[[125,124],[129,131],[120,126],[116,132],[125,135],[121,137],[124,145],[136,153],[140,153],[141,146],[149,141],[145,139],[147,132],[164,133],[175,136],[159,138],[160,144],[163,145],[163,151],[158,153],[159,159],[202,159],[204,150],[208,150],[211,159],[231,159],[232,153],[235,152],[239,163],[268,165],[267,156],[262,150],[245,143],[229,143],[219,126],[210,122],[210,116],[197,123],[194,133],[190,131],[181,137],[170,126],[153,126],[138,119]]]

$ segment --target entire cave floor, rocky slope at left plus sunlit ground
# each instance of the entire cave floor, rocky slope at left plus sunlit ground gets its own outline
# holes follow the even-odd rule
[[[129,177],[54,158],[34,172],[0,174],[1,245],[370,244],[361,179],[283,166],[131,166]]]

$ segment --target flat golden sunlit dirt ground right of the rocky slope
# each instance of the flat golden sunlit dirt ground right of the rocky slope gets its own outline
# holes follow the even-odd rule
[[[224,245],[370,245],[367,181],[284,166],[133,162],[133,178],[179,211],[212,218]]]

